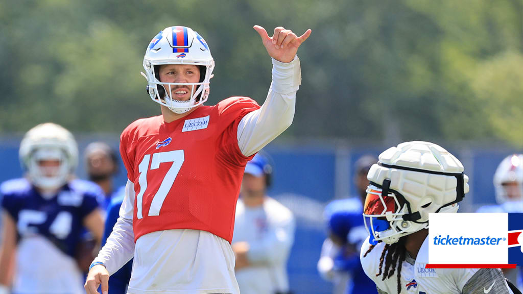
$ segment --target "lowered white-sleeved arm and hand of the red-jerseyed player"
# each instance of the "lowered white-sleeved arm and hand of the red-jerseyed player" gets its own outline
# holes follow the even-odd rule
[[[112,229],[107,243],[101,248],[93,261],[85,282],[87,294],[96,294],[101,285],[102,293],[107,294],[109,275],[116,273],[134,255],[134,232],[132,229],[134,204],[134,184],[128,180],[126,195],[120,208],[120,217]]]

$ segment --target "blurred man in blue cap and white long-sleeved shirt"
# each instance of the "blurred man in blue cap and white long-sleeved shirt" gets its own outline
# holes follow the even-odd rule
[[[295,221],[289,209],[266,195],[271,173],[260,153],[245,166],[231,245],[242,294],[289,293],[287,259]]]

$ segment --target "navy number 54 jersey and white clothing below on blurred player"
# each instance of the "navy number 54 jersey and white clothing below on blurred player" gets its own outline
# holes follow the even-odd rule
[[[0,185],[2,208],[17,229],[14,293],[85,293],[75,254],[100,187],[74,179],[43,197],[25,178]],[[5,270],[5,269],[0,269]]]

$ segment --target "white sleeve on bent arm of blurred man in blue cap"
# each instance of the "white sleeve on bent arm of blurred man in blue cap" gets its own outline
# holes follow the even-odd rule
[[[294,242],[295,221],[292,215],[286,221],[269,228],[263,240],[249,244],[247,258],[253,264],[285,262]]]

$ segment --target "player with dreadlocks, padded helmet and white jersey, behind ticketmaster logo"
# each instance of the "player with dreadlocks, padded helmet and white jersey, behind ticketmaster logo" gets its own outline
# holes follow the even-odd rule
[[[456,157],[434,143],[405,142],[381,153],[367,178],[363,217],[370,236],[360,258],[378,293],[511,293],[498,268],[416,272],[428,263],[429,213],[458,212],[469,192]]]

